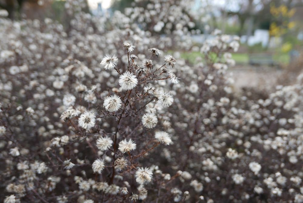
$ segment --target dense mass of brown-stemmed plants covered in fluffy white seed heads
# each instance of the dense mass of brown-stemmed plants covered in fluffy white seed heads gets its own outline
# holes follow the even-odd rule
[[[178,57],[191,46],[186,1],[165,15],[157,2],[167,2],[152,2],[129,9],[135,18],[68,6],[67,30],[0,19],[0,197],[303,202],[303,76],[273,93],[234,93],[226,70],[238,38],[215,30],[190,67]],[[157,14],[169,35],[140,29],[139,13]]]

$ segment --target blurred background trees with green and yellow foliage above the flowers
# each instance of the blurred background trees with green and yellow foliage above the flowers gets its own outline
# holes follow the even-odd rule
[[[97,15],[97,13],[98,15],[104,15],[105,13],[112,15],[112,11],[121,11],[124,13],[127,7],[146,8],[151,2],[151,0],[78,1],[86,5],[79,6],[76,4],[76,0],[0,0],[0,9],[5,9],[8,13],[8,18],[14,20],[22,18],[40,20],[51,18],[61,23],[68,32],[71,19],[74,16],[70,12],[71,9],[69,7],[81,7],[75,9],[75,11],[87,12],[92,15]],[[178,6],[179,1],[166,0],[165,2],[171,6]],[[192,32],[192,37],[198,39],[199,36],[194,35],[203,33],[207,36],[214,29],[221,29],[224,34],[241,36],[242,46],[240,52],[244,54],[251,51],[283,52],[287,55],[291,49],[301,49],[299,46],[303,42],[303,0],[195,0],[193,2],[195,3],[191,5],[191,9],[182,11],[186,15],[185,17],[193,22],[192,27],[187,26],[187,29],[194,31]],[[97,10],[97,3],[102,4],[103,8],[101,11]],[[105,4],[106,6],[104,6]],[[108,4],[111,5],[110,8],[108,8]],[[91,7],[89,8],[88,5]],[[157,9],[161,10],[165,8]],[[155,32],[155,34],[170,33],[169,29],[166,28],[166,21],[161,22],[164,26],[160,30],[156,29],[156,31],[155,25],[159,23],[158,20],[133,20],[137,24],[142,24],[140,28],[147,28],[151,32]],[[263,32],[262,36],[255,34],[255,31],[259,32],[260,29]],[[172,26],[171,30],[175,30],[175,27]],[[266,45],[260,42],[260,40],[265,38],[268,39]],[[276,42],[275,38],[277,38]],[[198,43],[201,43],[201,41],[200,39],[197,40]]]

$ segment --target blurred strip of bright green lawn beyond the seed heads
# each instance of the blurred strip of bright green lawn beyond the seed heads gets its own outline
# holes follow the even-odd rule
[[[197,57],[202,57],[203,54],[200,52],[183,52],[181,57],[188,60],[190,63],[195,63]],[[213,56],[211,56],[213,57]],[[288,53],[275,53],[273,56],[274,61],[281,64],[289,63]],[[233,53],[232,58],[236,61],[237,64],[248,64],[249,63],[249,54],[248,53]]]

